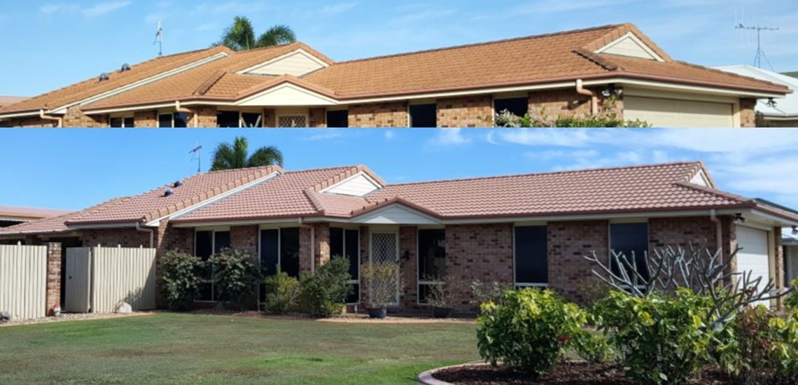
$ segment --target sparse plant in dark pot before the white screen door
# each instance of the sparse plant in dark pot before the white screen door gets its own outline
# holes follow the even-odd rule
[[[388,306],[396,303],[401,281],[399,264],[396,262],[374,262],[365,264],[361,270],[364,283],[363,303],[370,318],[385,318]]]

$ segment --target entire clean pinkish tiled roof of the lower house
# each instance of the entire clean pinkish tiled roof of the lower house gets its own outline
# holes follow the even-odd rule
[[[705,185],[694,183],[697,173],[707,176]],[[375,181],[378,188],[362,196],[329,192],[363,176]],[[164,196],[166,189],[174,193]],[[798,223],[798,214],[790,208],[718,190],[701,162],[397,185],[385,184],[370,169],[358,165],[287,172],[264,167],[200,173],[177,188],[164,185],[81,212],[0,229],[0,236],[146,224],[164,216],[170,216],[171,223],[196,225],[310,217],[357,223],[359,216],[393,204],[438,220],[752,209]]]

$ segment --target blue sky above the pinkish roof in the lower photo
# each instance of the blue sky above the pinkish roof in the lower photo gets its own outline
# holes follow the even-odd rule
[[[287,170],[364,164],[388,183],[701,160],[725,191],[798,208],[795,129],[3,129],[0,205],[136,195],[196,173],[197,143],[207,170],[235,136],[278,146]]]

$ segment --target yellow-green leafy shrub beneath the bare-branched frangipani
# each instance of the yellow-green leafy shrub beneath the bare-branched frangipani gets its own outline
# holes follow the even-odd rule
[[[713,338],[705,296],[677,288],[675,296],[610,292],[595,305],[595,321],[621,354],[626,375],[641,383],[685,383],[703,363]]]

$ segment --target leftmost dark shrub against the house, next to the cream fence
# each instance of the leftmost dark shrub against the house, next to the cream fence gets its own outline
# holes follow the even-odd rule
[[[185,252],[169,251],[160,257],[158,288],[168,307],[176,311],[192,308],[199,287],[201,261]]]

